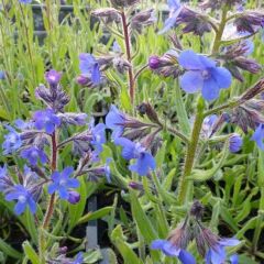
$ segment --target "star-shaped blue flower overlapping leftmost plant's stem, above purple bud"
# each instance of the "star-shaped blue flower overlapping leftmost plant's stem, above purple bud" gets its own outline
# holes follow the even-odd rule
[[[58,191],[58,196],[63,200],[69,199],[69,188],[77,188],[79,186],[79,182],[76,178],[69,178],[73,174],[73,167],[66,167],[62,173],[54,172],[52,174],[53,184],[51,184],[47,188],[50,195]]]

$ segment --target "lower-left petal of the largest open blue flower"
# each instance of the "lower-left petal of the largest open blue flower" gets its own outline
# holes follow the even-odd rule
[[[200,72],[187,72],[180,78],[180,87],[188,94],[200,90],[204,86],[204,79]]]

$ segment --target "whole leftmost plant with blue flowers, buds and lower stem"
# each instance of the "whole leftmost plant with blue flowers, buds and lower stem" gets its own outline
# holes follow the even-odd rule
[[[84,183],[87,183],[89,175],[95,176],[96,172],[97,179],[106,176],[111,182],[111,161],[105,165],[99,156],[106,143],[106,125],[89,121],[86,113],[65,111],[70,99],[59,84],[61,77],[61,73],[52,69],[45,75],[47,86],[36,88],[36,98],[43,101],[44,109],[33,112],[30,120],[16,120],[13,125],[6,125],[3,154],[24,160],[26,165],[22,168],[19,163],[3,165],[0,190],[7,201],[14,201],[15,215],[30,213],[38,223],[40,263],[55,263],[53,257],[57,261],[63,257],[63,263],[82,263],[81,254],[67,261],[66,252],[55,251],[46,235],[59,201],[70,205],[80,201],[80,178],[85,177]],[[80,127],[82,131],[70,135],[72,127]],[[65,132],[68,139],[62,135]],[[66,164],[59,160],[62,150],[69,143],[73,143],[74,156],[79,162]],[[44,211],[43,202],[46,205]]]

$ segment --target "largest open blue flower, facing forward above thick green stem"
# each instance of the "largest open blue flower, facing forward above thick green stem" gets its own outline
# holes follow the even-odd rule
[[[228,69],[193,51],[182,52],[178,62],[187,70],[180,78],[182,88],[188,94],[201,90],[208,101],[218,98],[220,89],[230,87],[232,82]]]

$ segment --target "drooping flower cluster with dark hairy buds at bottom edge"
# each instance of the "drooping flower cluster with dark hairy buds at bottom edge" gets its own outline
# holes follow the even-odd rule
[[[205,228],[200,222],[204,207],[194,202],[185,222],[175,229],[166,240],[155,240],[151,244],[152,250],[162,250],[165,255],[178,257],[183,264],[195,264],[195,257],[186,251],[187,245],[195,239],[199,254],[205,257],[207,264],[222,264],[227,260],[226,246],[240,244],[237,239],[221,239]],[[193,223],[193,224],[191,224]],[[232,255],[231,263],[235,263],[238,256]]]

